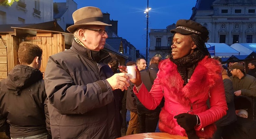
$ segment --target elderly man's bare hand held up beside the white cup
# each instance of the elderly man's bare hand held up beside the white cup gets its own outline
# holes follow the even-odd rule
[[[107,79],[112,90],[121,89],[122,91],[127,90],[127,87],[130,86],[129,76],[125,73],[116,73],[110,78]]]

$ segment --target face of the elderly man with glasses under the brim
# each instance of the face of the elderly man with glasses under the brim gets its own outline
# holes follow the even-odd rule
[[[91,25],[87,26],[84,29],[84,38],[82,38],[82,43],[86,46],[86,48],[94,51],[99,51],[104,48],[104,45],[106,44],[106,39],[108,38],[108,33],[104,32],[105,26],[96,26]],[[93,30],[89,30],[93,29]],[[101,29],[100,31],[95,29]],[[101,33],[101,34],[100,34]],[[103,34],[103,35],[102,35]]]

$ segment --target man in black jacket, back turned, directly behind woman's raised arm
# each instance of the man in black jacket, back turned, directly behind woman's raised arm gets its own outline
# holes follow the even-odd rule
[[[148,69],[140,70],[141,80],[148,91],[151,90],[154,80],[157,78],[158,64],[160,61],[161,59],[159,57],[153,57],[150,60]],[[155,132],[161,111],[160,106],[155,110],[148,110],[138,98],[136,98],[136,106],[140,123],[140,133]]]

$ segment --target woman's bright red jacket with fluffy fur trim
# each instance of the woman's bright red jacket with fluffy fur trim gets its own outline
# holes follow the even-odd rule
[[[183,84],[177,65],[166,59],[159,64],[157,78],[150,92],[144,84],[139,92],[134,86],[134,92],[149,110],[154,110],[165,98],[159,115],[158,126],[161,132],[187,136],[173,117],[188,112],[197,114],[201,121],[200,125],[194,127],[197,136],[211,138],[216,130],[214,122],[226,115],[227,111],[219,62],[206,56],[198,63],[189,82],[185,86]],[[206,105],[207,99],[210,100],[210,109]]]

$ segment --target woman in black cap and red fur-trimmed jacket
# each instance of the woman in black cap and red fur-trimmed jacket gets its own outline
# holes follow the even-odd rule
[[[220,66],[204,44],[209,32],[192,20],[178,20],[171,33],[170,59],[159,64],[151,91],[147,91],[136,69],[136,79],[130,79],[135,84],[134,92],[150,110],[165,98],[159,115],[161,132],[189,139],[211,138],[216,130],[214,122],[226,114],[227,103]]]

